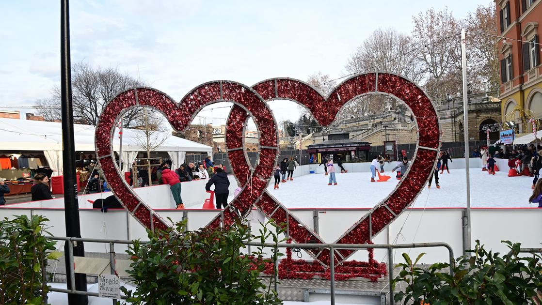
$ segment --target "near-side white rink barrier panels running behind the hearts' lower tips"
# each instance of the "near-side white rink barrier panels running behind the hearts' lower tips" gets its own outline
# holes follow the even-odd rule
[[[317,230],[325,242],[334,242],[359,220],[369,209],[291,209],[308,228]],[[374,243],[422,243],[446,242],[454,250],[454,255],[463,253],[463,227],[462,215],[464,208],[414,208],[405,211],[393,222],[388,229],[377,235]],[[161,209],[157,212],[166,219],[170,217],[173,222],[188,220],[190,230],[197,230],[209,223],[218,215],[218,210],[175,210]],[[81,236],[85,238],[109,238],[119,240],[147,240],[145,229],[125,210],[110,209],[101,213],[96,209],[80,209]],[[49,219],[48,231],[55,236],[66,236],[64,225],[64,210],[61,208],[1,208],[0,217],[11,218],[12,215],[43,215]],[[472,212],[472,238],[480,240],[487,249],[505,253],[508,248],[501,240],[521,242],[522,247],[539,248],[542,240],[542,209],[538,208],[473,208]],[[254,232],[257,233],[263,216],[253,211],[248,217]],[[59,244],[61,247],[62,244]],[[124,251],[118,245],[118,251]],[[102,244],[86,243],[86,251],[107,252]],[[416,257],[425,252],[422,263],[446,262],[448,253],[444,248],[418,248],[395,250],[394,261],[402,261],[401,253],[409,253]],[[310,259],[303,254],[304,259]],[[378,261],[387,261],[385,250],[375,250]],[[367,252],[357,251],[350,260],[367,260]]]

